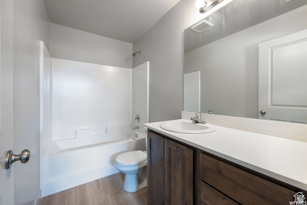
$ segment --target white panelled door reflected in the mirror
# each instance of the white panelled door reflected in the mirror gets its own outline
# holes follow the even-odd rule
[[[307,30],[259,44],[259,119],[307,123]]]

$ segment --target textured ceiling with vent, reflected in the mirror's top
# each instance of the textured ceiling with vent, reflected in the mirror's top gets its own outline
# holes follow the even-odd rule
[[[306,4],[307,0],[234,0],[204,18],[214,24],[210,29],[197,33],[190,29],[191,25],[184,31],[184,52],[200,48]]]

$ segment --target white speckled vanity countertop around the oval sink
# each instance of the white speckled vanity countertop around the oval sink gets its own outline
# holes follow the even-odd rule
[[[183,134],[144,124],[163,135],[220,156],[244,167],[307,190],[307,143],[216,126],[204,134]]]

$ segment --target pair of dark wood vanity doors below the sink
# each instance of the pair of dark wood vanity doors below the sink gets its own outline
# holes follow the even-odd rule
[[[193,204],[193,150],[147,135],[147,204]]]

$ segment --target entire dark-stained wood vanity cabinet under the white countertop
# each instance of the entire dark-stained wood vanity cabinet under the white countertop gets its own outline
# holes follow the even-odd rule
[[[148,205],[289,204],[307,191],[152,130],[148,131]]]

